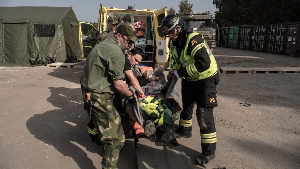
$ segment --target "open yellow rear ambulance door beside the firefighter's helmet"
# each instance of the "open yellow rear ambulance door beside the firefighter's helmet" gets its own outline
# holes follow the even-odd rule
[[[161,21],[168,14],[167,7],[156,11],[155,13],[155,45],[156,45],[156,61],[158,64],[164,65],[169,58],[168,42],[169,38],[164,38],[164,32],[161,27]]]

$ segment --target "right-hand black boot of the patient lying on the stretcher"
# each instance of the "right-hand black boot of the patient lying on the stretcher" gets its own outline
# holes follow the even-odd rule
[[[158,140],[155,142],[156,146],[162,146],[165,143],[168,143],[174,138],[174,132],[167,126],[161,125],[156,129]]]

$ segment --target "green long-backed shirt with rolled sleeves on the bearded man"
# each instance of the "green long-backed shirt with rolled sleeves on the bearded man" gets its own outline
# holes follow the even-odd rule
[[[124,54],[114,37],[97,45],[85,61],[81,84],[83,93],[116,93],[113,80],[123,79]]]

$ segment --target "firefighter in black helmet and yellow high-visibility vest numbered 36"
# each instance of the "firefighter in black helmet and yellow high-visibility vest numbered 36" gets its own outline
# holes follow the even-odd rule
[[[203,35],[193,32],[175,14],[162,20],[162,29],[171,39],[170,74],[182,78],[182,106],[175,138],[192,137],[193,107],[200,127],[202,154],[197,164],[206,164],[215,157],[217,134],[213,109],[217,106],[216,86],[219,83],[217,63]]]

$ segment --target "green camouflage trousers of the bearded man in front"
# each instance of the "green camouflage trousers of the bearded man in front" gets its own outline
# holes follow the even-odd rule
[[[116,168],[125,135],[120,115],[113,106],[113,96],[108,93],[92,93],[91,102],[91,118],[103,146],[102,168]]]

